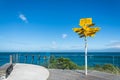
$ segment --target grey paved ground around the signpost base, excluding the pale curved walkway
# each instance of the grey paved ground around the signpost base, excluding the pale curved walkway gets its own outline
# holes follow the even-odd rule
[[[50,76],[48,80],[120,80],[120,76],[99,71],[88,71],[84,75],[83,70],[60,70],[49,69]]]

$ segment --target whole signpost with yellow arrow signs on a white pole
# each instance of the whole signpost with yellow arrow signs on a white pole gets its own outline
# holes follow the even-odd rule
[[[82,28],[73,28],[73,31],[78,33],[80,38],[85,38],[85,75],[87,75],[87,37],[93,37],[100,28],[93,28],[92,18],[82,18],[80,19],[79,25]],[[91,28],[92,27],[92,28]]]

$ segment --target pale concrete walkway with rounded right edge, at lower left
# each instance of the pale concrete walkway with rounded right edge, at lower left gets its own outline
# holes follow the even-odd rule
[[[47,80],[49,71],[32,64],[17,63],[6,80]]]

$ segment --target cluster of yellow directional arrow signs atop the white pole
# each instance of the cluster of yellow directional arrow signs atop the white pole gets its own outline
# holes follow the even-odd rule
[[[80,25],[82,28],[73,28],[73,31],[78,33],[80,37],[93,37],[100,30],[98,27],[92,27],[95,25],[92,23],[92,18],[80,19]]]

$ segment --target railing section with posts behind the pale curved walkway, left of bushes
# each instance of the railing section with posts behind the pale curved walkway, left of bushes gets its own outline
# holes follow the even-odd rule
[[[48,67],[50,56],[40,54],[14,54],[13,63],[28,63]]]

